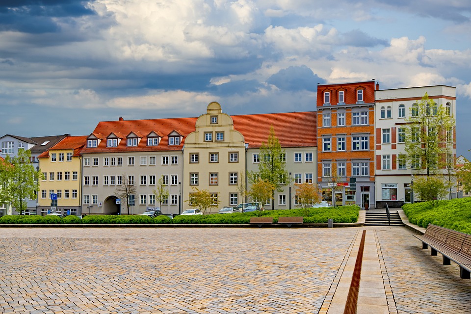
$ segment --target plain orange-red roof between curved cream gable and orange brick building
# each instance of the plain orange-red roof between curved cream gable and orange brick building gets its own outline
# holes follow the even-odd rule
[[[234,129],[244,135],[248,148],[259,148],[267,141],[270,126],[281,147],[316,147],[316,112],[265,113],[232,116]]]

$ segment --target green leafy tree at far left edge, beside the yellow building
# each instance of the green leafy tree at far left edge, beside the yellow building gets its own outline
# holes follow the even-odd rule
[[[0,204],[11,203],[20,214],[27,208],[26,199],[35,199],[40,171],[31,162],[31,152],[20,148],[16,157],[0,160]]]

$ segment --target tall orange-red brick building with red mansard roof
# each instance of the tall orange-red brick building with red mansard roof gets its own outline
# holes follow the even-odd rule
[[[374,207],[376,89],[374,80],[317,85],[317,183],[336,205]]]

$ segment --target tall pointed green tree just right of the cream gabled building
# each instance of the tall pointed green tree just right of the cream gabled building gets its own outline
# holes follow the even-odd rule
[[[286,152],[281,148],[281,144],[275,134],[273,126],[270,127],[270,134],[267,142],[262,142],[260,148],[259,172],[250,173],[251,183],[257,183],[260,178],[262,181],[271,183],[271,199],[275,197],[275,190],[283,191],[283,185],[286,184],[288,172],[286,167]]]

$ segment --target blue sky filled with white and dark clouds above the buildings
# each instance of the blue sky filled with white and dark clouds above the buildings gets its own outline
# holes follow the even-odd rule
[[[317,83],[455,86],[471,159],[469,0],[1,0],[0,136],[315,110]]]

